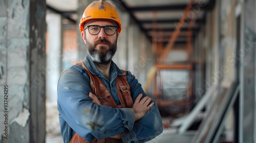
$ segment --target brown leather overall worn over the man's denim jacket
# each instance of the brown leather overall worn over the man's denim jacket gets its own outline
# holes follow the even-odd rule
[[[117,106],[110,92],[108,91],[108,88],[106,88],[105,84],[96,75],[92,75],[90,73],[87,66],[83,63],[83,60],[76,63],[76,65],[80,65],[86,70],[86,73],[90,78],[91,89],[93,93],[97,96],[101,105],[111,106],[113,108],[131,108],[133,106],[133,99],[131,97],[130,85],[127,82],[125,70],[121,70],[125,75],[116,77],[116,88],[117,88],[118,98],[121,103],[121,105]],[[77,143],[77,142],[86,143],[89,141],[84,140],[77,133],[75,133],[69,143]],[[95,138],[91,142],[93,143],[101,143],[101,142],[117,143],[118,142],[119,143],[120,139],[109,137],[109,138],[103,138],[98,140],[97,138]]]

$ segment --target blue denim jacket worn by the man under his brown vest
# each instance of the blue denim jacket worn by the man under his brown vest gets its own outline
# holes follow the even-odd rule
[[[88,55],[83,61],[90,72],[105,83],[119,105],[115,78],[117,75],[123,75],[122,71],[112,61],[109,81],[95,67]],[[127,71],[126,77],[131,85],[133,101],[140,93],[145,97],[146,94],[135,76]],[[90,79],[81,66],[71,65],[60,75],[57,103],[64,142],[69,142],[75,132],[87,141],[108,138],[120,133],[123,142],[146,142],[162,133],[162,120],[156,103],[144,117],[134,122],[135,113],[132,108],[119,109],[94,104],[89,98],[89,92],[92,92]]]

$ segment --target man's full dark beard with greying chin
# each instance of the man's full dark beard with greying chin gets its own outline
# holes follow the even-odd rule
[[[95,41],[94,43],[90,43],[87,41],[87,50],[89,56],[92,58],[93,62],[100,63],[100,64],[108,64],[111,62],[113,56],[116,53],[117,50],[117,39],[111,43],[110,41],[106,39],[99,39]],[[96,46],[98,43],[106,43],[109,45],[109,50],[106,50],[106,47],[101,45],[99,46],[99,51],[96,50]]]

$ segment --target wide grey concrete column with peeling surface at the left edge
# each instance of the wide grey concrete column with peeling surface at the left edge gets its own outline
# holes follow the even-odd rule
[[[45,142],[45,11],[44,0],[0,2],[0,142]]]

